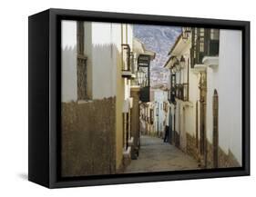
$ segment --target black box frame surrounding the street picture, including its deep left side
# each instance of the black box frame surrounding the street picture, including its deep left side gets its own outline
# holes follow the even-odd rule
[[[242,167],[61,178],[60,20],[189,25],[242,31]],[[250,22],[48,9],[28,19],[28,180],[48,188],[250,175]]]

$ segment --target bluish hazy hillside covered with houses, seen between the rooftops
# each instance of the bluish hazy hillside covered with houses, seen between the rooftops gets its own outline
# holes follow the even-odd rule
[[[150,64],[151,86],[167,84],[165,76],[169,71],[163,68],[168,59],[170,47],[180,34],[180,27],[160,25],[133,25],[134,36],[137,37],[148,50],[156,53],[156,58]]]

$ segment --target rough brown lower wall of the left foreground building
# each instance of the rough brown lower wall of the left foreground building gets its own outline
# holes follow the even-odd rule
[[[63,177],[116,171],[116,98],[62,103]]]

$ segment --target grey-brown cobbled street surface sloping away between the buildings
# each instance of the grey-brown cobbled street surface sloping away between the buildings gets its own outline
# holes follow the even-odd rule
[[[198,163],[177,147],[156,137],[141,136],[137,160],[132,160],[125,173],[160,172],[199,169]]]

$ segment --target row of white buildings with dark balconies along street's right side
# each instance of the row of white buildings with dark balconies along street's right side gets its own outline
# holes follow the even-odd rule
[[[202,167],[241,166],[241,31],[183,28],[169,55],[172,143]]]

